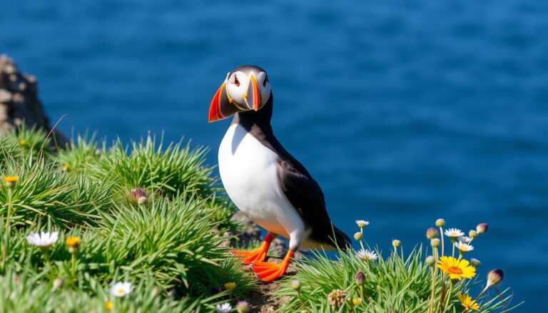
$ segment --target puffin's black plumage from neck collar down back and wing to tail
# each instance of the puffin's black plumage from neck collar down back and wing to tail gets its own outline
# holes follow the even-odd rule
[[[236,113],[232,123],[239,123],[266,148],[278,154],[278,178],[285,196],[303,218],[305,226],[312,230],[310,240],[333,246],[335,242],[345,249],[350,238],[344,232],[332,226],[320,185],[312,178],[308,170],[290,155],[276,139],[270,120],[273,113],[273,94],[259,111]]]

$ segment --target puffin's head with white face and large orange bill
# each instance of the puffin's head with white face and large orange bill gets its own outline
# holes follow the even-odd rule
[[[238,112],[259,111],[271,96],[272,88],[263,68],[235,68],[226,75],[211,101],[209,122],[223,120]]]

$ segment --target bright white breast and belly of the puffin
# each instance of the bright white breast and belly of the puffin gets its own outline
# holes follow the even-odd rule
[[[253,222],[300,242],[304,223],[280,187],[277,163],[273,150],[242,126],[230,125],[219,147],[220,179],[228,197]]]

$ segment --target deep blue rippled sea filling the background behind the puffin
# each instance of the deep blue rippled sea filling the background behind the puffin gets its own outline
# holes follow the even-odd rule
[[[336,225],[369,220],[387,255],[439,217],[488,222],[480,275],[504,269],[515,312],[545,310],[548,1],[4,1],[0,29],[68,135],[185,136],[210,165],[230,123],[208,124],[213,94],[265,68],[275,133]]]

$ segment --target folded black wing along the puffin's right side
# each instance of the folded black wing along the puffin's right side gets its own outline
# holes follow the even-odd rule
[[[312,230],[311,240],[333,246],[335,231],[335,241],[341,249],[350,245],[350,238],[331,225],[320,185],[298,160],[291,156],[278,160],[278,177],[285,196]]]

